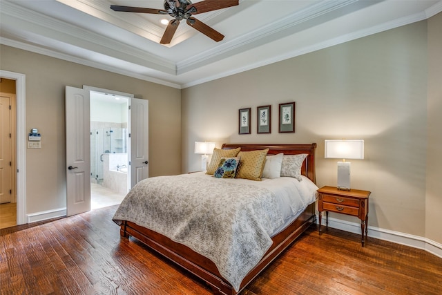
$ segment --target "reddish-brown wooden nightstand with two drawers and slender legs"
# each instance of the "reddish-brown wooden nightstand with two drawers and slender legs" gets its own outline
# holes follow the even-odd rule
[[[329,211],[356,216],[361,219],[362,247],[368,232],[368,197],[370,191],[352,189],[341,191],[336,187],[321,187],[318,189],[319,234],[322,214],[325,211],[325,226],[329,225]]]

